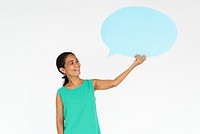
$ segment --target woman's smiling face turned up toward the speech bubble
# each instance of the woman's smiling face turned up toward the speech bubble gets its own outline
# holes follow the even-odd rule
[[[79,76],[80,67],[81,67],[81,64],[79,63],[76,56],[73,54],[69,54],[65,59],[65,65],[64,65],[64,68],[62,68],[62,72],[68,77]]]

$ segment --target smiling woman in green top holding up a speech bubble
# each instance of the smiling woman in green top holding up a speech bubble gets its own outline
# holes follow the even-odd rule
[[[81,64],[76,56],[72,52],[60,54],[56,65],[65,81],[56,96],[58,134],[100,134],[94,91],[116,87],[145,60],[145,55],[136,55],[133,64],[113,80],[84,80],[79,77]]]

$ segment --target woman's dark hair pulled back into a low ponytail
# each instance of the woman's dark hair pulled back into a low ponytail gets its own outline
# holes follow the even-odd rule
[[[60,55],[57,57],[57,59],[56,59],[56,66],[57,66],[57,69],[58,69],[58,71],[59,71],[60,73],[62,73],[62,74],[63,74],[63,72],[61,72],[59,69],[60,69],[61,67],[64,68],[65,59],[66,59],[66,57],[67,57],[69,54],[73,54],[73,55],[74,55],[74,53],[72,53],[72,52],[64,52],[64,53],[60,54]],[[63,75],[64,75],[64,74],[63,74]],[[67,78],[66,75],[64,75],[62,78],[65,79],[65,81],[64,81],[64,83],[63,83],[63,86],[64,86],[64,85],[66,85],[66,84],[69,82],[69,79]]]

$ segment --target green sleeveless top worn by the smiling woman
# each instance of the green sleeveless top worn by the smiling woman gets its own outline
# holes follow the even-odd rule
[[[58,89],[63,103],[64,134],[100,134],[92,80],[77,88]]]

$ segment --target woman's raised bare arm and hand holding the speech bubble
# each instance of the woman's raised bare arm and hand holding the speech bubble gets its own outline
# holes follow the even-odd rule
[[[125,70],[123,73],[121,73],[118,77],[116,77],[114,80],[99,80],[99,79],[93,79],[93,86],[95,90],[105,90],[110,89],[112,87],[116,87],[119,85],[126,76],[138,65],[142,64],[146,60],[146,56],[136,55],[134,62],[131,64],[131,66]]]

